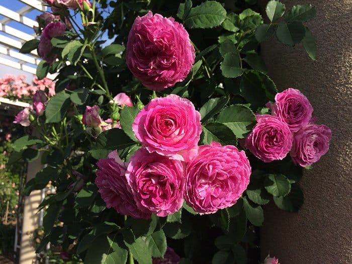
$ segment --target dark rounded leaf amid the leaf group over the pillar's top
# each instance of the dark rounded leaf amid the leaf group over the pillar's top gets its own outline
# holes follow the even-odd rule
[[[276,31],[278,40],[287,45],[294,46],[300,43],[306,35],[306,28],[301,22],[293,22],[290,24],[279,24]]]

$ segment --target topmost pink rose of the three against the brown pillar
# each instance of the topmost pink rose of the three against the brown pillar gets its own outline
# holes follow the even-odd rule
[[[292,133],[307,125],[313,113],[308,99],[299,90],[292,88],[278,93],[271,109],[273,115],[284,121]]]

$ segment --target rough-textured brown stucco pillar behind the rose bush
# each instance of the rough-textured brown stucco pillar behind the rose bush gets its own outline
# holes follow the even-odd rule
[[[352,263],[352,0],[282,2],[287,10],[316,7],[308,27],[316,37],[317,61],[302,45],[292,49],[274,38],[262,45],[262,56],[279,90],[294,87],[308,97],[332,140],[329,152],[304,173],[303,208],[294,214],[265,207],[261,255],[270,251],[282,264]]]

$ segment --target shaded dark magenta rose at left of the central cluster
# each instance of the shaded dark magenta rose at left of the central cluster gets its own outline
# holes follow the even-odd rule
[[[107,208],[114,208],[122,215],[134,218],[149,218],[150,214],[141,212],[133,200],[132,191],[125,177],[126,166],[117,151],[109,154],[108,158],[97,162],[96,185]]]

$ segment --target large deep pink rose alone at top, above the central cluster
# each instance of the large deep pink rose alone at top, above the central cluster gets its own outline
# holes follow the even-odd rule
[[[150,11],[135,19],[126,52],[126,63],[133,75],[155,91],[183,81],[195,59],[195,49],[184,26]]]

